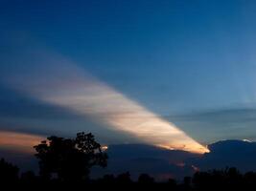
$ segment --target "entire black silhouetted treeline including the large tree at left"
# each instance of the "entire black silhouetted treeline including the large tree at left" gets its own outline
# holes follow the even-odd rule
[[[0,159],[0,185],[30,187],[37,189],[83,186],[97,188],[161,188],[162,190],[219,190],[256,189],[256,173],[242,174],[236,168],[197,172],[177,182],[170,179],[156,182],[150,175],[141,174],[131,180],[128,172],[114,176],[105,175],[98,180],[89,178],[91,167],[107,165],[106,152],[92,134],[79,133],[77,138],[50,137],[35,145],[39,174],[33,171],[19,172],[19,168],[5,159]]]

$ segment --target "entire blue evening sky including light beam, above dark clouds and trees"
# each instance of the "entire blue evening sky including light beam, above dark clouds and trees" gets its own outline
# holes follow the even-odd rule
[[[0,5],[2,136],[85,131],[187,150],[256,140],[255,1]]]

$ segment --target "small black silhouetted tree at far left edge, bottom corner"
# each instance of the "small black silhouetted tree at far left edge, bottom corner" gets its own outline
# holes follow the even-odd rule
[[[5,159],[0,159],[0,181],[2,183],[11,183],[18,180],[19,169],[17,166]]]

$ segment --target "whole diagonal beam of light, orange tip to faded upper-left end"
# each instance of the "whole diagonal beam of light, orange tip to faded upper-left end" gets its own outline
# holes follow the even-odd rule
[[[34,64],[28,69],[30,73],[12,76],[9,83],[45,102],[80,115],[96,117],[114,130],[145,143],[199,154],[209,152],[173,123],[156,116],[95,77],[82,73],[72,62],[59,57],[47,59],[43,58],[43,63],[39,62],[37,66]]]

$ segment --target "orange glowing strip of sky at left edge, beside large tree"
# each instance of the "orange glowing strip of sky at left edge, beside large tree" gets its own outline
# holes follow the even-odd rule
[[[43,139],[31,134],[0,131],[0,148],[31,154],[35,152],[33,147]]]

